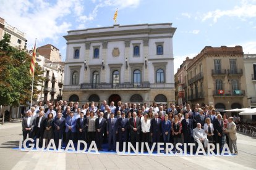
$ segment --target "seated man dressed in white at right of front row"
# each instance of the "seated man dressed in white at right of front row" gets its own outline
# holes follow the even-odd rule
[[[208,145],[207,134],[205,133],[205,131],[203,131],[203,129],[201,129],[200,123],[197,123],[197,127],[193,129],[193,137],[195,139],[195,142],[198,143],[198,145],[203,143],[204,148],[207,149],[207,145]]]

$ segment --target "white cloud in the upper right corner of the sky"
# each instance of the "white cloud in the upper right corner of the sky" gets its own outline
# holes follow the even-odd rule
[[[216,9],[207,14],[203,14],[202,21],[213,19],[213,22],[217,22],[217,20],[221,17],[237,17],[241,20],[245,20],[246,18],[254,18],[256,17],[256,1],[242,1],[240,6],[235,6],[233,9],[229,10],[220,10]]]

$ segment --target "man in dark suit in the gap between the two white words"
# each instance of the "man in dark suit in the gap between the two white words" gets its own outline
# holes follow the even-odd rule
[[[107,134],[108,150],[116,150],[117,118],[114,118],[114,113],[112,112],[108,119]]]

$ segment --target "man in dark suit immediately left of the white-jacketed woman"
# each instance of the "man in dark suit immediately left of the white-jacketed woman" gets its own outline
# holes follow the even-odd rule
[[[136,147],[136,142],[140,144],[140,131],[142,130],[142,123],[140,118],[137,117],[137,113],[134,111],[132,113],[132,118],[129,119],[130,123],[130,142],[134,147]]]

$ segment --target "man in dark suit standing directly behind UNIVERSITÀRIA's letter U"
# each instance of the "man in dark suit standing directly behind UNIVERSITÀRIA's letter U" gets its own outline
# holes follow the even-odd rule
[[[127,128],[129,126],[129,119],[126,118],[126,113],[121,113],[122,118],[118,119],[118,141],[119,141],[119,148],[122,149],[123,142],[127,144]],[[119,150],[121,150],[119,149]]]

